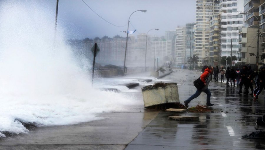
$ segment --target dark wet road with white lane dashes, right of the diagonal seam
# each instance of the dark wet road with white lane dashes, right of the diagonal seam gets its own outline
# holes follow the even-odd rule
[[[177,76],[185,74],[185,78]],[[178,84],[180,102],[188,99],[196,88],[192,85],[200,72],[173,72],[165,79]],[[181,81],[182,80],[182,81]],[[211,82],[213,112],[174,113],[161,111],[158,116],[127,146],[131,149],[265,149],[264,139],[242,139],[254,129],[257,116],[265,114],[264,95],[254,101],[250,95],[237,94],[239,88]],[[263,92],[264,94],[264,92]],[[206,104],[206,94],[193,99],[190,106]],[[199,121],[175,121],[168,116],[198,116]],[[260,128],[262,129],[262,128]],[[264,128],[263,128],[264,129]]]

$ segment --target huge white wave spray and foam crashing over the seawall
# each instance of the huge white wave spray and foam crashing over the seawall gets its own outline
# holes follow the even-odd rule
[[[77,63],[60,25],[54,47],[54,13],[44,8],[34,1],[1,2],[0,137],[27,133],[21,122],[76,124],[132,104],[122,94],[92,88],[91,64]]]

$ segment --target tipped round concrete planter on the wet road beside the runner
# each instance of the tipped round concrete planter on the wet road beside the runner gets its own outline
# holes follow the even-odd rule
[[[142,88],[145,108],[160,104],[179,103],[177,83],[155,83]],[[166,108],[165,108],[166,109]]]

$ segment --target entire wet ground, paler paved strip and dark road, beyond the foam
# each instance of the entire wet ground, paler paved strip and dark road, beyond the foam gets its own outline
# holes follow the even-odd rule
[[[195,93],[193,81],[200,74],[177,69],[161,81],[178,84],[183,104]],[[174,113],[144,109],[141,86],[134,89],[137,92],[125,94],[135,97],[138,103],[127,111],[99,114],[104,119],[81,124],[31,129],[29,134],[0,139],[0,149],[265,149],[264,139],[242,138],[256,131],[256,117],[265,114],[264,91],[254,100],[250,95],[237,94],[237,87],[226,88],[224,83],[211,82],[211,103],[215,104],[212,112]],[[206,104],[205,93],[193,99],[189,106],[198,102]],[[178,115],[198,116],[199,120],[168,119]]]

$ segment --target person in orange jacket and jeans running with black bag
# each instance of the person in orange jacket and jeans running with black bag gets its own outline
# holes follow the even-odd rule
[[[206,106],[213,106],[214,104],[211,104],[210,102],[210,98],[211,98],[211,91],[208,89],[208,85],[210,83],[211,80],[211,76],[213,74],[213,67],[208,67],[204,70],[203,74],[201,74],[200,79],[201,81],[203,81],[204,83],[204,87],[202,89],[197,89],[197,91],[195,92],[195,94],[193,94],[190,98],[188,98],[186,101],[184,101],[184,105],[186,107],[188,107],[188,104],[191,102],[191,100],[195,99],[196,97],[198,97],[201,92],[204,92],[207,94],[207,98],[206,98]]]

